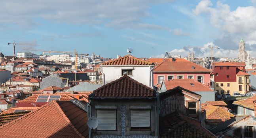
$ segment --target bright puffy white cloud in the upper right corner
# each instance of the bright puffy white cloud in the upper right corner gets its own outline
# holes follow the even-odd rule
[[[228,4],[222,4],[220,1],[216,7],[212,5],[210,0],[201,0],[192,11],[195,15],[209,14],[210,23],[220,30],[222,35],[231,35],[235,39],[244,37],[247,43],[256,43],[255,7],[237,7],[231,11]]]

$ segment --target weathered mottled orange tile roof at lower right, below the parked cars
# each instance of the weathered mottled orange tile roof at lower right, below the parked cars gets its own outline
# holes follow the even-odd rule
[[[219,106],[207,105],[202,106],[201,108],[206,111],[206,121],[209,123],[222,123],[231,117],[234,117],[233,114]]]

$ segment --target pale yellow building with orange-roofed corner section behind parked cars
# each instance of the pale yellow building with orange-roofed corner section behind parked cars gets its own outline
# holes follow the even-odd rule
[[[239,92],[245,94],[250,92],[250,79],[249,74],[243,71],[239,71],[236,75],[236,82],[214,82],[214,91],[219,93],[229,93],[233,95],[233,92]]]

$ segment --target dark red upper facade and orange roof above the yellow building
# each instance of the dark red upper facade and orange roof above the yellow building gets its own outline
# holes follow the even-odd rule
[[[246,72],[244,62],[214,62],[214,82],[236,82],[239,71]]]

